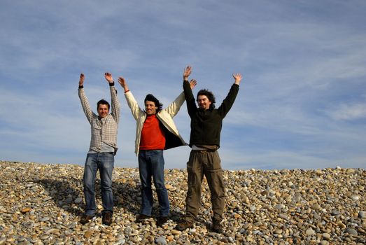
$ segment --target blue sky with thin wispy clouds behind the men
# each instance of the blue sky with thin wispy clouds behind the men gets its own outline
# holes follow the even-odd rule
[[[192,66],[195,92],[219,105],[243,80],[223,123],[224,169],[362,167],[366,162],[366,1],[0,2],[0,160],[83,165],[104,72],[143,106],[167,106]],[[117,167],[137,167],[135,121],[119,87]],[[189,141],[185,104],[175,118]],[[164,153],[185,168],[190,148]]]

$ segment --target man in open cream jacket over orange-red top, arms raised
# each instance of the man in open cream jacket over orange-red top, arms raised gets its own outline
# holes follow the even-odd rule
[[[125,89],[127,104],[136,120],[135,153],[139,158],[142,197],[141,209],[139,215],[136,216],[136,222],[140,223],[151,216],[153,209],[151,178],[153,177],[160,207],[157,225],[161,226],[168,221],[169,216],[169,197],[164,184],[163,151],[187,145],[173,121],[185,101],[184,92],[181,92],[165,109],[162,109],[162,104],[153,94],[147,94],[143,110],[136,102],[132,92],[129,91],[125,79],[120,77],[118,82]],[[190,81],[191,88],[196,84],[195,80]]]

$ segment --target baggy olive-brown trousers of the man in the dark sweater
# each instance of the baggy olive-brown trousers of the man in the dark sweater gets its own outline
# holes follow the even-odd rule
[[[185,199],[185,219],[195,221],[201,207],[201,184],[206,176],[211,191],[213,218],[222,221],[225,207],[223,169],[218,151],[190,151],[187,163],[188,193]]]

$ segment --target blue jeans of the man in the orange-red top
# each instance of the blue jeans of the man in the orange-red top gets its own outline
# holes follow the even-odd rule
[[[153,209],[153,190],[151,190],[151,177],[154,180],[157,200],[160,207],[160,216],[169,215],[169,198],[164,184],[164,156],[162,150],[140,151],[139,172],[141,181],[142,204],[140,214],[151,216]]]

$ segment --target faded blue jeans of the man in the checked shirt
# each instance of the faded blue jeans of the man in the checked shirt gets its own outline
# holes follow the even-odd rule
[[[99,169],[101,185],[101,202],[103,211],[113,212],[112,172],[114,166],[113,153],[88,153],[84,167],[84,196],[85,214],[94,216],[95,205],[95,177]]]

